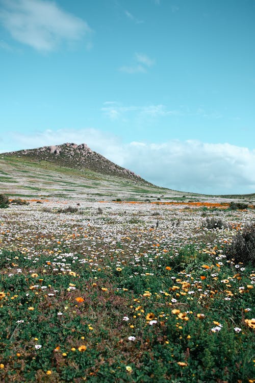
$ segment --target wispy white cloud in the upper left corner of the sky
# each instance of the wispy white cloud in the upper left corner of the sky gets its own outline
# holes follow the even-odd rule
[[[15,40],[38,51],[53,51],[61,42],[77,41],[91,32],[84,20],[52,1],[2,0],[2,4],[2,25]]]

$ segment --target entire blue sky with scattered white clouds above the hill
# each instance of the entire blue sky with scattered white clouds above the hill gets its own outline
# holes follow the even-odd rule
[[[0,152],[87,143],[159,186],[255,192],[255,0],[0,0]]]

